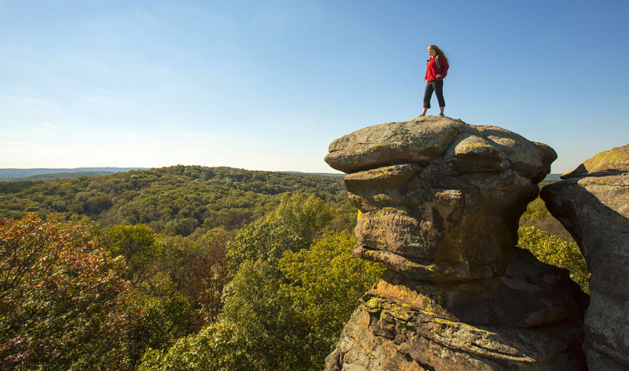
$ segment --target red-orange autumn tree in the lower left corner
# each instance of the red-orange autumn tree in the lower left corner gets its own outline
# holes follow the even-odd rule
[[[124,261],[79,226],[0,218],[2,368],[88,368],[110,350],[105,322],[129,288],[123,275]]]

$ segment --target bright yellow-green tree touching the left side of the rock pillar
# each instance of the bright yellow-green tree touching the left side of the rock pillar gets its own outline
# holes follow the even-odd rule
[[[294,308],[308,324],[310,364],[320,370],[359,299],[384,273],[382,264],[352,255],[356,238],[349,231],[328,232],[310,249],[286,252],[280,270]]]

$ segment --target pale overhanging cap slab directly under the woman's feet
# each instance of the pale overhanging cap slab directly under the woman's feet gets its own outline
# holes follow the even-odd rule
[[[336,139],[328,151],[328,165],[348,174],[409,162],[426,166],[454,160],[472,171],[474,166],[477,171],[514,169],[536,182],[548,174],[557,157],[546,144],[498,126],[468,125],[440,116],[362,128]]]

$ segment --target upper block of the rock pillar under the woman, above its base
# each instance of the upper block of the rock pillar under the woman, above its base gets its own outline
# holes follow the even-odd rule
[[[505,272],[557,157],[503,128],[430,116],[357,130],[329,151],[361,211],[356,255],[443,282]]]

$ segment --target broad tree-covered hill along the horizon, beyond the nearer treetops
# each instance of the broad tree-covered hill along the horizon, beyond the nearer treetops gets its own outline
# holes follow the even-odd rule
[[[0,182],[0,217],[84,214],[103,226],[144,223],[168,236],[238,229],[280,203],[284,193],[347,204],[340,176],[177,165],[49,181]]]

